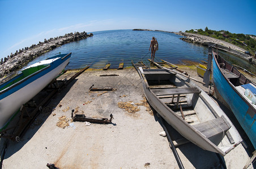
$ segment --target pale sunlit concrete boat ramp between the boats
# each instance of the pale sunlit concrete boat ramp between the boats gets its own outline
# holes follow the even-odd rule
[[[113,90],[90,92],[92,84]],[[159,135],[164,130],[157,114],[147,108],[134,68],[86,70],[50,101],[19,143],[8,140],[2,168],[48,168],[48,163],[58,168],[178,168],[167,137]],[[87,117],[113,114],[114,119],[110,124],[72,122],[72,109]],[[223,168],[215,153],[192,143],[176,150],[185,168]],[[243,168],[249,155],[240,144],[221,159],[227,168]]]

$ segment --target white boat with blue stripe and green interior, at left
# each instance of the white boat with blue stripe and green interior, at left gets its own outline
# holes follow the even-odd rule
[[[21,70],[0,84],[0,128],[6,128],[12,115],[58,76],[69,63],[70,54],[42,60]]]

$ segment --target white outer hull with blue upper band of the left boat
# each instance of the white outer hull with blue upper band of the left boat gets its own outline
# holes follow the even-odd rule
[[[49,68],[28,78],[25,82],[18,86],[12,87],[10,90],[1,94],[0,100],[0,127],[7,126],[12,115],[17,112],[20,107],[38,94],[47,84],[58,76],[66,65],[69,63],[70,56],[65,59],[59,58],[50,64]],[[27,83],[27,84],[24,84]],[[15,91],[15,92],[12,92]]]

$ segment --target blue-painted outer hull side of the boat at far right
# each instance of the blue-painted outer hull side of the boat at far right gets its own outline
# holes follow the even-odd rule
[[[256,149],[256,117],[255,114],[253,117],[250,115],[250,112],[254,112],[255,110],[250,106],[250,103],[241,96],[233,84],[225,78],[224,74],[221,72],[219,64],[217,64],[215,56],[213,56],[212,59],[212,66],[214,87],[218,91],[218,94],[220,94],[223,100],[229,105],[233,114],[236,116],[237,121],[240,123]]]

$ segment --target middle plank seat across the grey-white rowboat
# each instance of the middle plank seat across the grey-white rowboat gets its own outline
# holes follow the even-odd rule
[[[200,91],[196,87],[186,87],[186,88],[163,88],[163,89],[152,89],[152,91],[157,95],[179,95],[179,94],[199,94]]]

